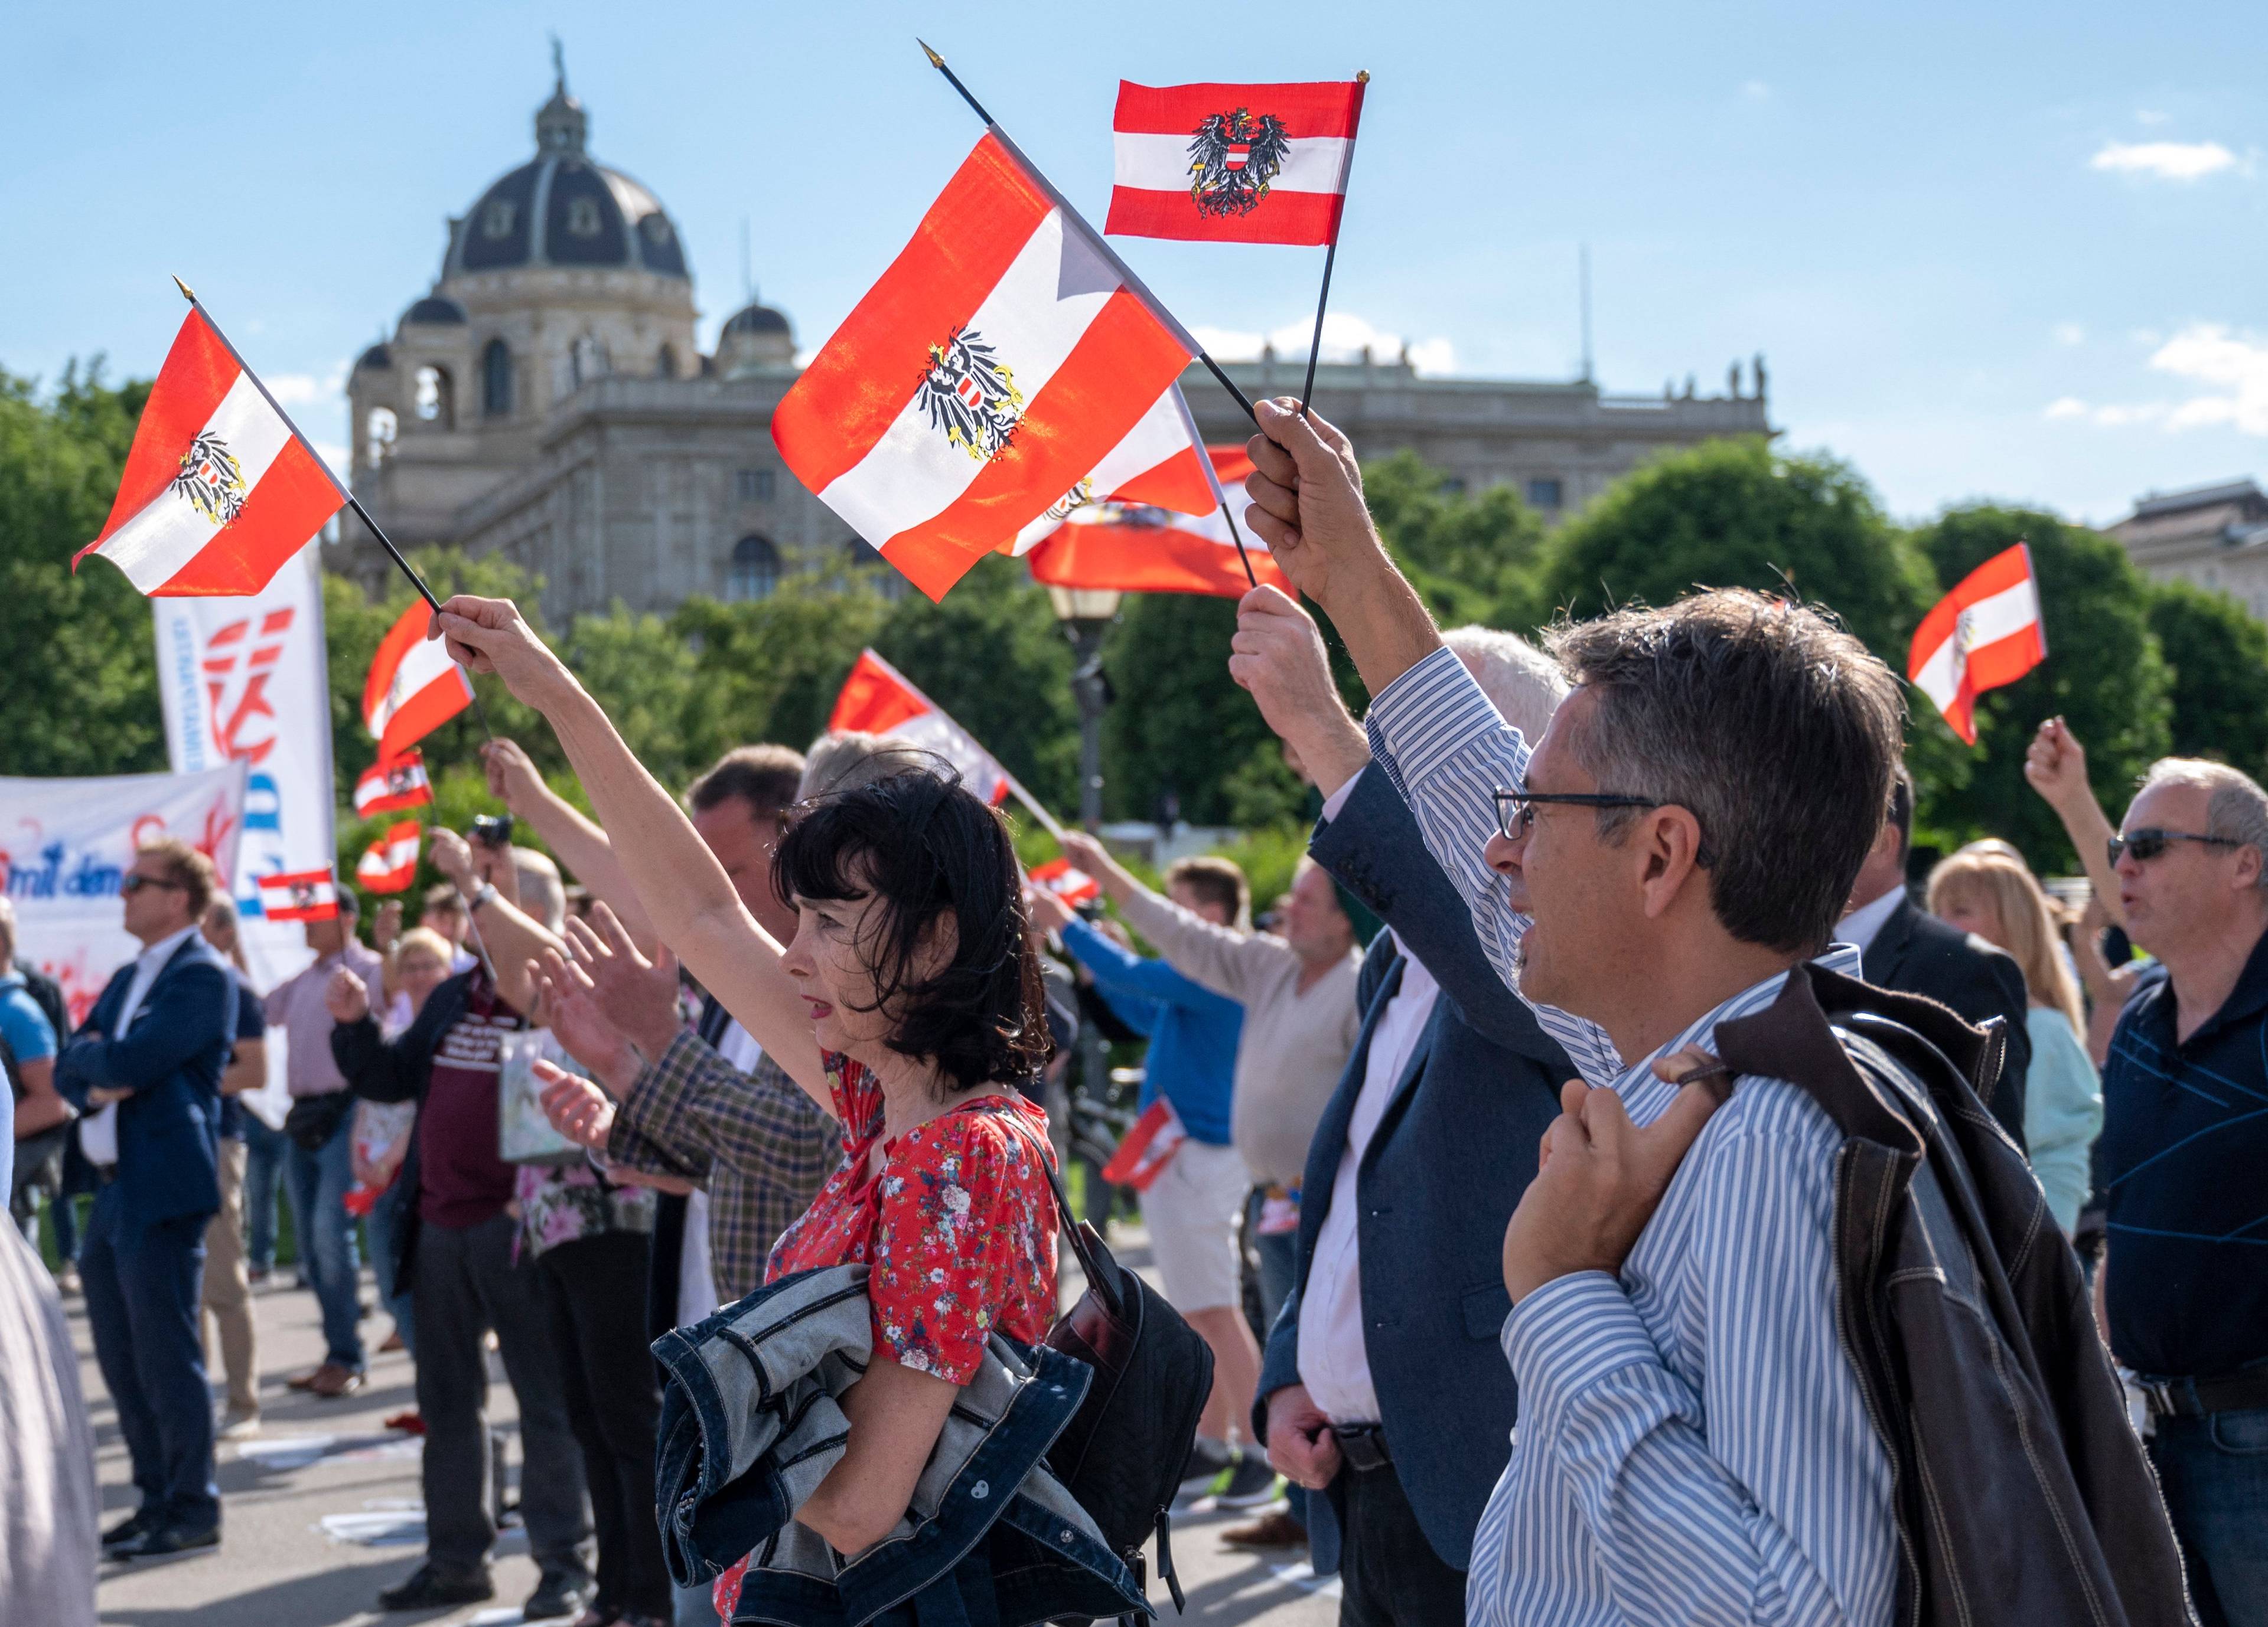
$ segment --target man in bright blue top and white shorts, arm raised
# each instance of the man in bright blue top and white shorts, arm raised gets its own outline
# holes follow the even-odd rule
[[[1216,927],[1250,918],[1245,872],[1227,859],[1182,859],[1166,870],[1166,897]],[[1163,1097],[1188,1140],[1141,1194],[1150,1251],[1166,1303],[1213,1346],[1213,1396],[1198,1421],[1191,1480],[1220,1482],[1222,1507],[1275,1496],[1266,1453],[1232,1446],[1252,1412],[1261,1353],[1245,1323],[1236,1217],[1252,1192],[1245,1160],[1229,1144],[1229,1085],[1245,1008],[1166,961],[1150,961],[1080,920],[1055,893],[1032,888],[1032,920],[1057,934],[1093,977],[1095,993],[1129,1029],[1150,1040],[1139,1110]]]

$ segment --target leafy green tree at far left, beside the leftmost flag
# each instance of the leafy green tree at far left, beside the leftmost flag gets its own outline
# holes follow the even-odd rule
[[[109,560],[70,555],[102,530],[147,383],[102,383],[102,358],[41,399],[0,372],[0,773],[166,768],[150,605]]]

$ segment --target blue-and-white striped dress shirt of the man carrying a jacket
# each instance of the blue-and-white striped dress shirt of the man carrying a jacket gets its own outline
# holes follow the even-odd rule
[[[1526,741],[1449,650],[1388,684],[1368,727],[1515,983],[1526,920],[1481,847],[1490,793],[1524,782]],[[1844,945],[1823,959],[1855,972]],[[1599,1024],[1535,1015],[1588,1083],[1651,1124],[1676,1097],[1653,1058],[1708,1045],[1785,981],[1742,990],[1628,1067]],[[1835,1326],[1839,1144],[1803,1090],[1744,1076],[1619,1276],[1563,1276],[1513,1307],[1501,1341],[1520,1425],[1472,1545],[1474,1627],[1892,1620],[1889,1455]]]

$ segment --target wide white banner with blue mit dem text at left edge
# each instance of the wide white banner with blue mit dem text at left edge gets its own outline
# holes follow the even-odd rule
[[[64,986],[75,1024],[141,954],[118,900],[136,845],[184,836],[236,881],[249,770],[234,761],[202,775],[0,777],[0,891],[16,906],[16,952]]]

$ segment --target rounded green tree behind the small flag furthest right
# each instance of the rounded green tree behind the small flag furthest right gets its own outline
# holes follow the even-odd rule
[[[2023,780],[2023,752],[2046,716],[2062,714],[2087,746],[2102,807],[2125,809],[2134,777],[2166,755],[2173,673],[2150,634],[2150,594],[2114,537],[2041,510],[1975,503],[1914,533],[1948,589],[1984,560],[2028,542],[2039,578],[2048,659],[2003,689],[1978,696],[1975,750],[1964,782],[1923,782],[1921,818],[1950,838],[2003,836],[2034,868],[2071,870],[2077,854],[2048,804]],[[1903,666],[1903,650],[1898,659]],[[1944,718],[1914,698],[1921,734],[1953,739]],[[1921,775],[1916,773],[1916,780]]]

